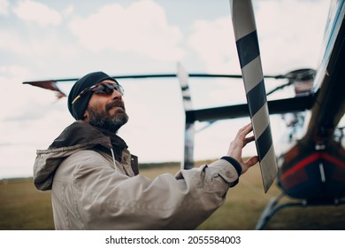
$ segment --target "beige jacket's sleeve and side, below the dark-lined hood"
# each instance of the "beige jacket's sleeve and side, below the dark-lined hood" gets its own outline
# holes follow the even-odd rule
[[[89,153],[73,175],[78,213],[86,229],[195,229],[238,182],[241,173],[231,161],[219,159],[152,181],[121,174]]]

